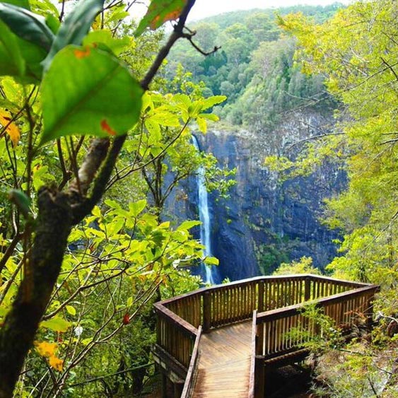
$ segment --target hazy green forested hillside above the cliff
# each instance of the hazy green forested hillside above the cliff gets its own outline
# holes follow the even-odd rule
[[[295,63],[295,40],[283,34],[278,18],[300,11],[315,21],[325,21],[340,4],[288,7],[226,13],[206,18],[192,26],[194,42],[204,52],[221,47],[204,57],[189,42],[172,49],[167,67],[169,78],[179,64],[203,81],[209,95],[226,95],[226,103],[216,111],[231,124],[262,131],[271,129],[283,112],[296,107],[330,109],[324,95],[323,78],[305,75]]]

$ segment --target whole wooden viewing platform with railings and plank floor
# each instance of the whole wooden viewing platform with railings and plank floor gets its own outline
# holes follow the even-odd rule
[[[303,315],[305,305],[336,327],[349,329],[363,316],[370,326],[377,291],[324,276],[261,276],[156,303],[153,356],[163,397],[267,397],[267,369],[300,361],[303,344],[323,333]]]

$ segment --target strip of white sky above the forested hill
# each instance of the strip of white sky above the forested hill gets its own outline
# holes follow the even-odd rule
[[[250,8],[279,8],[307,4],[311,6],[326,6],[336,0],[197,0],[191,10],[189,19],[197,20],[228,11],[248,10]],[[340,3],[350,4],[351,0],[340,0]]]

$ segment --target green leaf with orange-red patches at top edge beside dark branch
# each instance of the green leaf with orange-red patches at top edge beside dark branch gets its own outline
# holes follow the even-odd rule
[[[134,35],[141,35],[148,27],[155,30],[163,23],[180,17],[187,0],[152,0]]]

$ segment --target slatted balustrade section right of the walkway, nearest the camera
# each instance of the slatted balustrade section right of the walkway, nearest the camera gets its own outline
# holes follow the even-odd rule
[[[363,286],[363,285],[361,285]],[[345,288],[347,286],[343,286]],[[326,291],[325,281],[313,286],[312,297],[322,295]],[[321,308],[333,322],[334,327],[349,328],[358,322],[359,317],[367,319],[372,315],[371,301],[378,290],[378,286],[359,287],[351,291],[344,291],[329,297],[314,301],[290,305],[261,312],[257,315],[257,356],[264,359],[281,356],[295,351],[315,336],[324,331],[316,320],[305,316],[303,310],[306,305],[313,304]],[[328,291],[334,291],[334,286]]]

